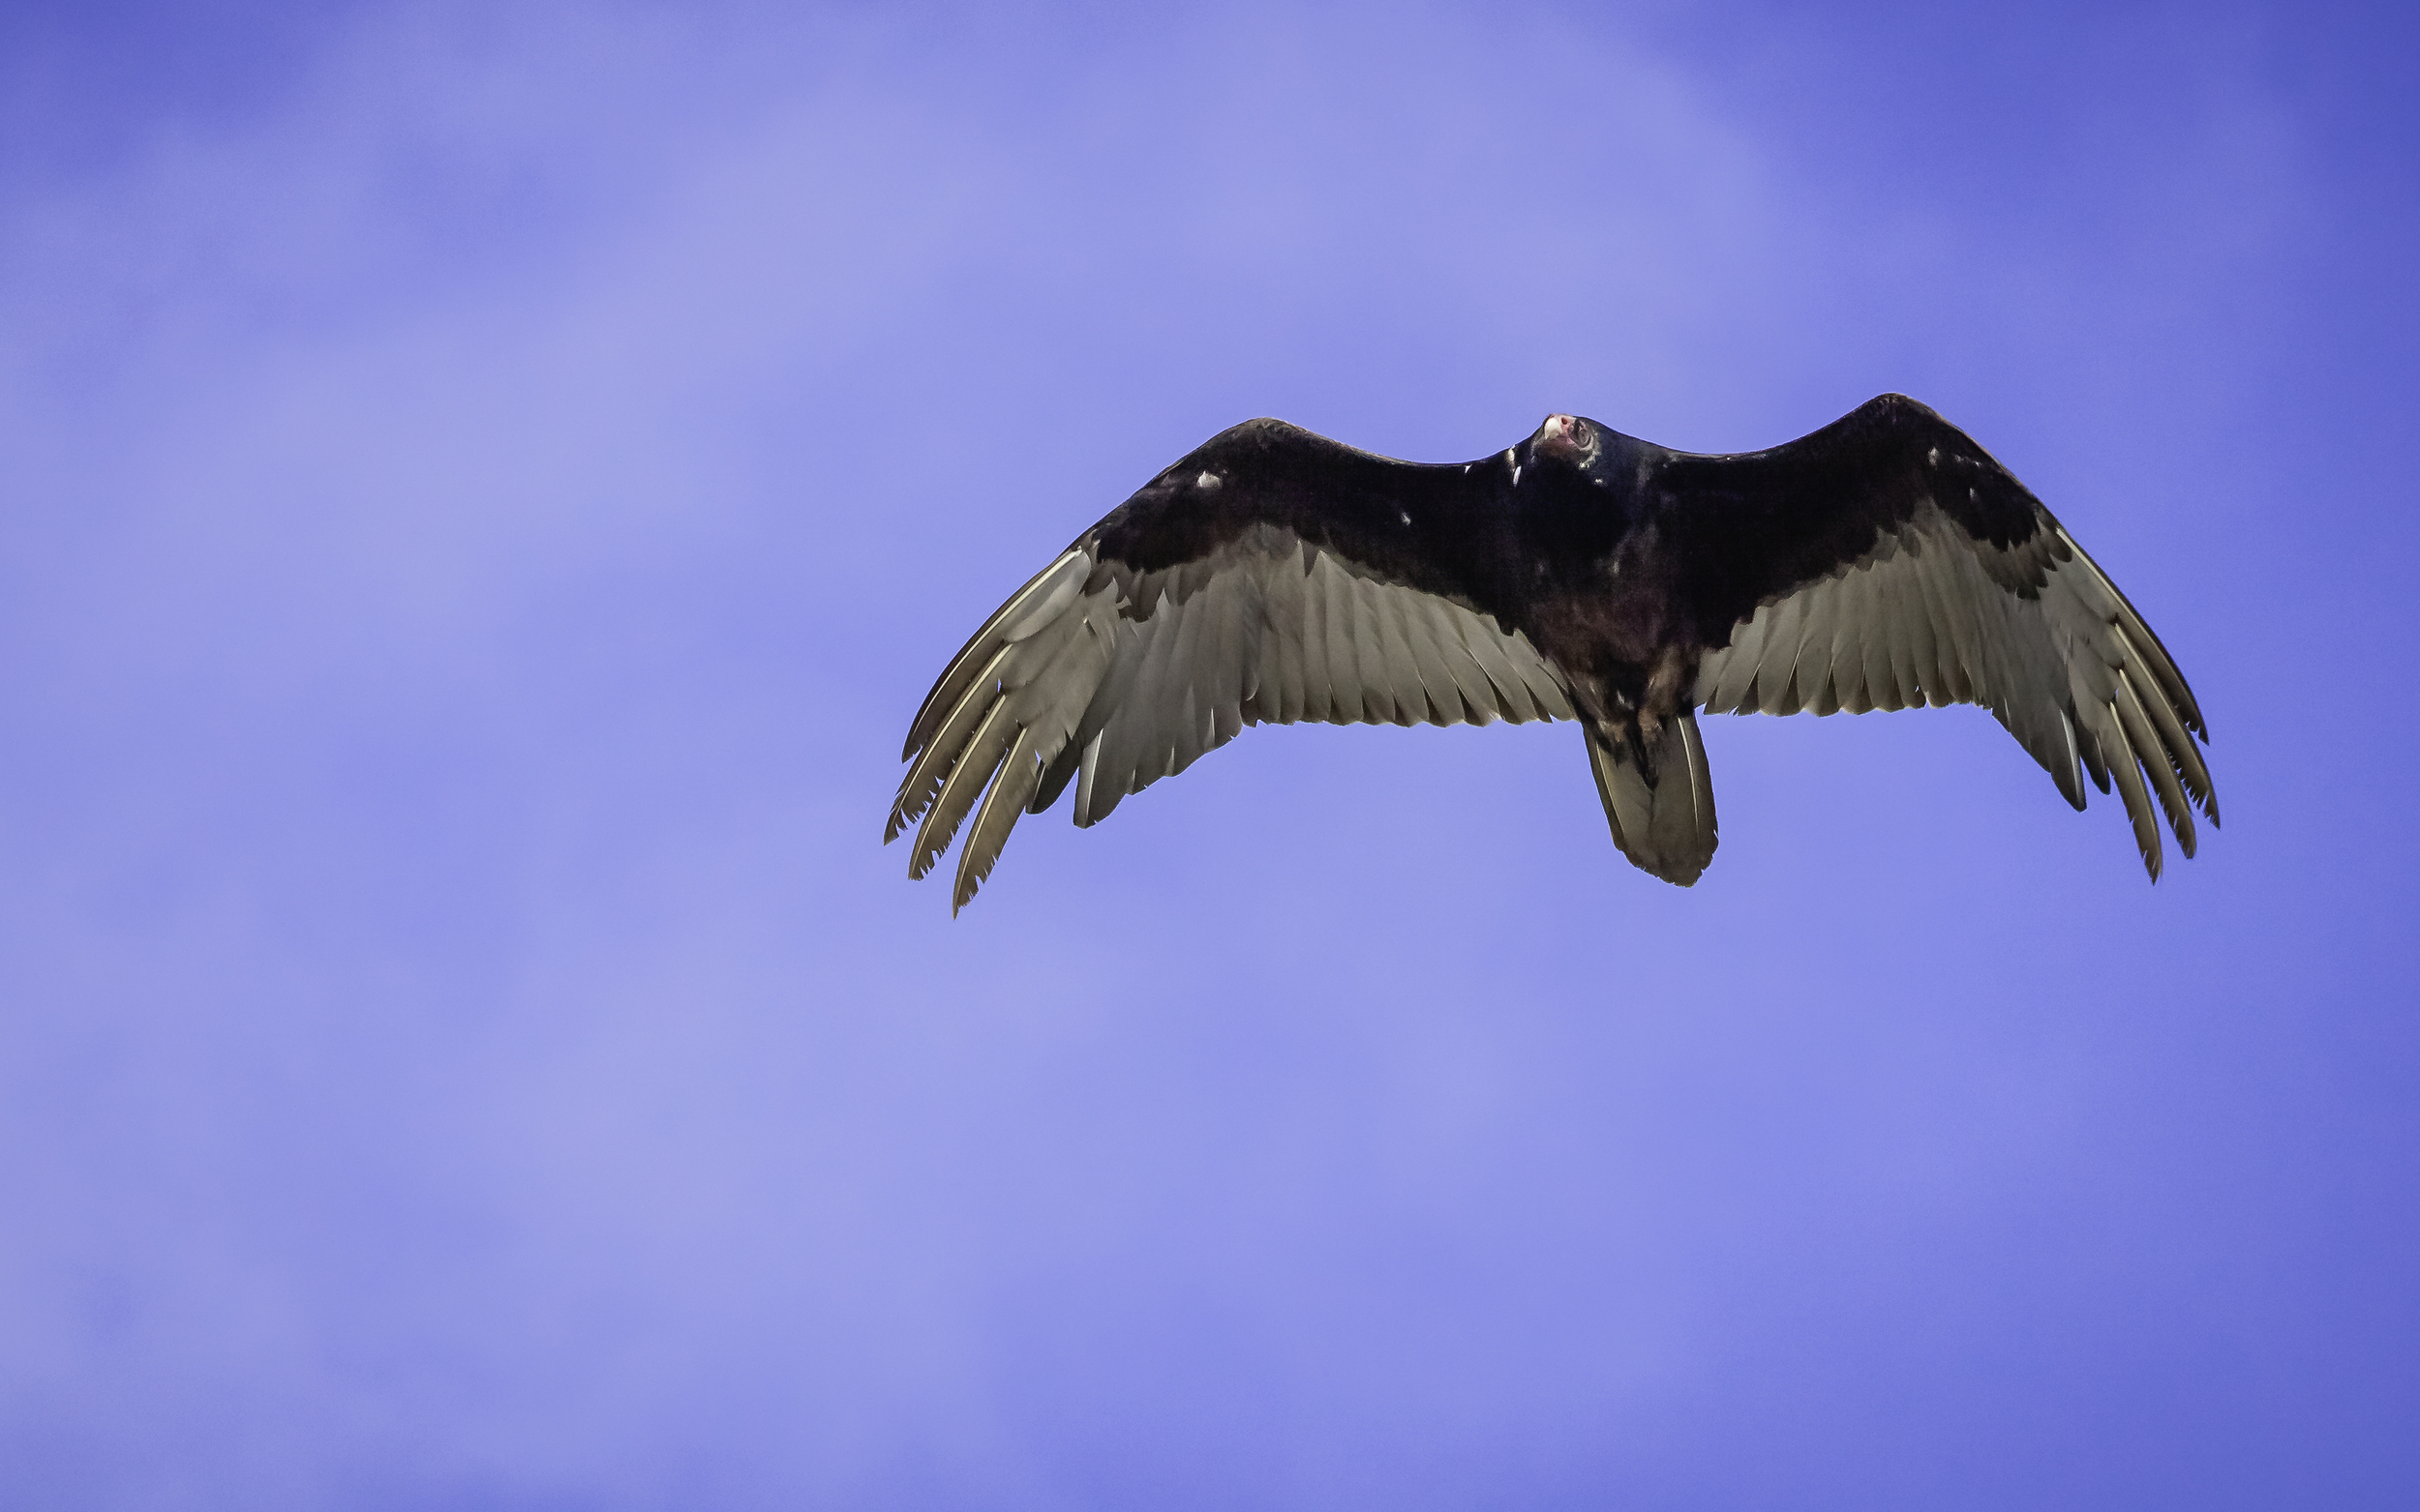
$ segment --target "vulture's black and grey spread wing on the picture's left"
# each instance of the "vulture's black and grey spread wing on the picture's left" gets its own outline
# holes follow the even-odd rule
[[[1283,421],[1225,431],[958,651],[908,731],[883,839],[922,820],[924,876],[973,813],[963,907],[1019,813],[1074,781],[1091,825],[1251,723],[1571,719],[1561,675],[1491,610],[1508,554],[1486,503],[1469,467]]]

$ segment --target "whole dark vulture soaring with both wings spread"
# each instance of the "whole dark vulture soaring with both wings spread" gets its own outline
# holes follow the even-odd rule
[[[1696,716],[1982,704],[2084,808],[2118,784],[2217,825],[2202,711],[2084,547],[1900,394],[1764,452],[1675,452],[1556,414],[1479,462],[1222,431],[1067,547],[951,658],[908,728],[883,839],[924,876],[973,815],[953,910],[1021,813],[1074,823],[1251,723],[1571,719],[1614,844],[1713,859]],[[2156,810],[2154,810],[2156,803]]]

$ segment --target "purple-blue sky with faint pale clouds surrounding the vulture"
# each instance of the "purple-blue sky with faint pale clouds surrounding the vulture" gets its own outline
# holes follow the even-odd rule
[[[0,1502],[2420,1500],[2410,22],[0,17]],[[956,922],[941,660],[1278,414],[1905,389],[2193,677],[1254,731]]]

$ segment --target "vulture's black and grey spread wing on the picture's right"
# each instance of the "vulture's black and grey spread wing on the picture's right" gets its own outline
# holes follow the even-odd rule
[[[2209,733],[2166,646],[1931,409],[1885,394],[1769,452],[1675,455],[1660,481],[1709,714],[1982,704],[2076,808],[2079,764],[2118,784],[2154,881],[2154,796],[2188,856],[2193,808],[2219,823]]]

